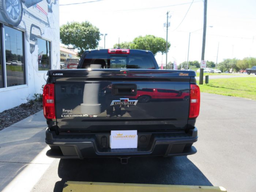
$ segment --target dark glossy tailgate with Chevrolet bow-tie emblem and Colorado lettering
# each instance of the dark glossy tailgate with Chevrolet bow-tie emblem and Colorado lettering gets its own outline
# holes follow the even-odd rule
[[[52,70],[48,73],[54,77],[56,121],[61,132],[177,131],[187,128],[189,87],[195,72],[70,71]]]

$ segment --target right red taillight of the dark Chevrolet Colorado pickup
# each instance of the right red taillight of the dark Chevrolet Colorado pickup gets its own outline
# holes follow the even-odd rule
[[[190,85],[189,118],[196,118],[200,110],[200,88],[196,84]]]

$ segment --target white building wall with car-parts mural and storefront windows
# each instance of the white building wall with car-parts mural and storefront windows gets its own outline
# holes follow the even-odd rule
[[[0,112],[42,93],[60,65],[59,0],[1,1]]]

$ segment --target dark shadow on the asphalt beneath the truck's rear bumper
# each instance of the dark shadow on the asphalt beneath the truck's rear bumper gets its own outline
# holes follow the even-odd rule
[[[58,174],[54,192],[66,181],[212,186],[186,156],[130,158],[125,165],[117,158],[61,159]]]

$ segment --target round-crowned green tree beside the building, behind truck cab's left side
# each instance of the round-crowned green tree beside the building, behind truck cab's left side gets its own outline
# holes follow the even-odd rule
[[[60,27],[61,43],[78,49],[79,57],[85,50],[97,48],[100,39],[99,29],[88,21],[67,22]]]

